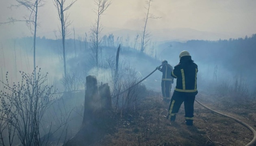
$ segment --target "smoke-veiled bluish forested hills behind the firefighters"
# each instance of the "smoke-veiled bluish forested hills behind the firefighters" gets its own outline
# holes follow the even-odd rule
[[[116,37],[113,34],[102,38],[99,57],[102,67],[105,63],[109,63],[111,58],[115,58],[119,43],[121,43],[120,59],[123,59],[126,64],[130,64],[131,67],[135,67],[142,76],[154,70],[164,59],[175,66],[178,64],[178,54],[187,50],[191,53],[192,59],[199,65],[199,73],[207,81],[233,79],[235,76],[241,76],[250,84],[249,88],[255,88],[256,34],[239,39],[219,39],[219,41],[154,42],[149,43],[145,53],[140,52],[139,46],[141,44],[139,42],[130,41],[129,43],[127,39],[124,39],[126,41],[121,39],[122,37]],[[32,37],[15,39],[15,43],[28,53],[28,44],[31,44],[32,41]],[[11,40],[10,44],[13,42],[14,40]],[[61,60],[61,40],[37,37],[37,43],[38,56],[54,56],[55,59],[56,56],[59,56],[58,59]],[[11,48],[13,45],[9,45],[9,47]],[[93,68],[95,62],[93,62],[87,38],[67,39],[66,47],[69,72],[86,73]],[[59,73],[62,74],[61,71]],[[157,75],[154,79],[157,78]]]

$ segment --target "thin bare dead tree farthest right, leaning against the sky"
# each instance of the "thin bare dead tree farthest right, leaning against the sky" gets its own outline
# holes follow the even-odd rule
[[[141,53],[143,53],[145,51],[145,48],[147,46],[147,43],[149,41],[149,38],[150,37],[150,32],[146,31],[146,26],[147,26],[147,23],[148,23],[148,19],[150,18],[153,18],[153,19],[158,19],[158,18],[161,18],[161,17],[155,17],[153,14],[149,13],[149,10],[150,10],[150,2],[153,2],[153,0],[147,0],[146,1],[146,4],[148,5],[148,7],[145,7],[145,9],[147,10],[147,13],[145,13],[146,17],[144,19],[144,22],[145,22],[145,25],[143,27],[143,32],[141,34]]]

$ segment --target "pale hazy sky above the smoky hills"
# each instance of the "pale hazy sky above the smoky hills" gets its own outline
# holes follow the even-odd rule
[[[67,3],[71,0],[66,0]],[[52,0],[39,8],[39,35],[58,30],[59,20]],[[8,9],[15,0],[0,0],[0,22],[8,17],[22,19],[26,9]],[[102,16],[102,24],[111,28],[142,30],[145,0],[112,0]],[[235,33],[251,36],[256,33],[256,0],[154,0],[150,12],[161,19],[150,19],[149,29],[192,28],[200,31]],[[93,0],[78,0],[68,11],[71,28],[89,28],[95,19]],[[87,32],[88,30],[85,30]],[[107,30],[104,30],[107,32]],[[24,23],[0,26],[0,39],[7,36],[29,35]]]

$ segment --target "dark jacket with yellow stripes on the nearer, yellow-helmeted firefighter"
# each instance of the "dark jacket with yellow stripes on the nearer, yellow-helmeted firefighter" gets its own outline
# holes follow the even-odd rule
[[[174,90],[197,93],[197,72],[197,64],[194,63],[191,56],[180,58],[180,63],[171,72],[171,76],[177,79]]]

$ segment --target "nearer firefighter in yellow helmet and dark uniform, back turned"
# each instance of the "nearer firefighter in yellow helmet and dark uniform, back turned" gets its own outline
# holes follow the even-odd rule
[[[175,121],[180,105],[184,102],[186,125],[193,125],[194,102],[197,94],[197,71],[197,64],[191,59],[189,52],[182,51],[180,63],[171,72],[171,76],[177,80],[167,119]]]

